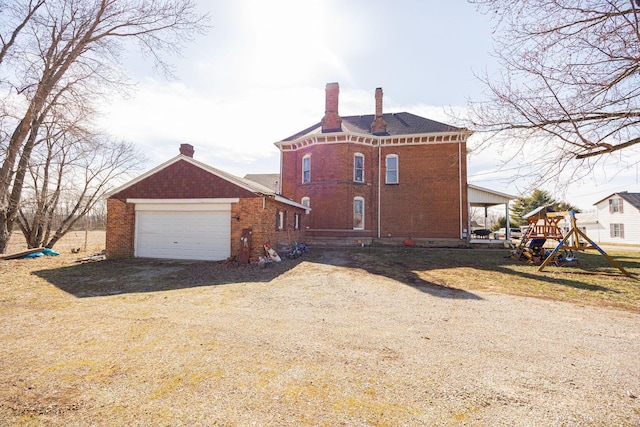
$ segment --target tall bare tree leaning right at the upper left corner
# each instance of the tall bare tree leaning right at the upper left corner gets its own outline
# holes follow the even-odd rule
[[[13,0],[0,3],[0,253],[18,217],[40,127],[52,109],[91,104],[126,79],[129,41],[168,70],[163,54],[206,28],[192,0]],[[75,102],[71,102],[71,101]]]

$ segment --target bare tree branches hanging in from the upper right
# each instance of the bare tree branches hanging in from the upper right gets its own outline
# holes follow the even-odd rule
[[[470,0],[495,19],[500,70],[471,103],[485,145],[533,153],[541,175],[588,173],[640,143],[640,0]]]

